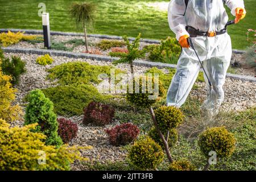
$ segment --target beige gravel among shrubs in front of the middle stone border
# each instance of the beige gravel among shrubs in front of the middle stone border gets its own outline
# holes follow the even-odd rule
[[[23,61],[26,62],[27,72],[20,77],[19,85],[16,86],[18,93],[16,93],[16,104],[24,105],[23,97],[32,90],[32,89],[42,89],[52,86],[52,83],[46,81],[47,76],[46,69],[52,68],[55,65],[62,63],[67,63],[70,61],[84,61],[93,65],[111,65],[110,62],[97,61],[90,59],[73,59],[68,57],[55,57],[55,60],[52,65],[47,65],[46,67],[36,64],[36,58],[38,55],[31,54],[14,54],[14,53],[5,53],[5,56],[20,56]],[[130,71],[130,67],[127,64],[119,64],[117,68],[123,69],[127,72]],[[137,67],[135,66],[135,73],[143,73],[146,71],[146,67]],[[167,72],[166,69],[163,70]],[[204,90],[204,83],[197,83],[199,89],[192,90],[191,94],[198,97],[206,97],[206,92]],[[226,84],[224,86],[225,90],[225,100],[224,107],[226,109],[242,110],[246,109],[249,106],[255,106],[256,103],[256,85],[253,82],[232,80],[230,78],[226,79]],[[80,146],[93,146],[92,150],[85,151],[82,155],[88,157],[90,160],[101,160],[102,163],[105,163],[107,160],[123,160],[126,155],[126,150],[122,147],[114,147],[109,144],[108,137],[104,132],[103,127],[95,126],[84,126],[82,125],[82,116],[75,116],[70,118],[73,122],[76,122],[79,125],[78,135],[75,139],[72,140],[71,144],[79,144]],[[107,127],[116,125],[117,123],[112,123]],[[13,122],[14,126],[22,126],[23,121]],[[78,162],[72,165],[73,170],[85,169],[84,166]]]

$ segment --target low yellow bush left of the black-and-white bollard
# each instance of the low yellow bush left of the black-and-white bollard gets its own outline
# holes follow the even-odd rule
[[[38,38],[37,35],[23,35],[24,32],[11,32],[8,31],[7,33],[3,32],[0,34],[0,43],[2,44],[3,47],[10,46],[11,44],[16,44],[20,40],[35,40]]]

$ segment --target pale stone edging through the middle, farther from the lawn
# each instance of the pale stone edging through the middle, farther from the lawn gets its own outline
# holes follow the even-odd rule
[[[68,52],[68,51],[57,51],[57,50],[49,50],[49,49],[34,49],[34,48],[10,48],[10,47],[2,47],[3,51],[6,53],[31,53],[36,55],[46,55],[47,53],[51,56],[65,56],[65,57],[73,57],[77,59],[92,59],[99,61],[114,61],[118,60],[117,57],[110,56],[102,56],[102,55],[92,55],[88,53],[76,53],[76,52]],[[175,64],[167,64],[167,63],[158,63],[144,60],[135,60],[134,65],[144,66],[144,67],[156,67],[159,69],[162,68],[176,68]],[[245,75],[236,75],[227,73],[226,77],[233,78],[235,80],[242,81],[250,81],[256,82],[256,77],[245,76]]]

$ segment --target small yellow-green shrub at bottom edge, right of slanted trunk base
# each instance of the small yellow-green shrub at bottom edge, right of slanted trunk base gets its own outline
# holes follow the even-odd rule
[[[188,160],[181,159],[171,163],[169,170],[170,171],[196,171],[196,167],[193,166]]]

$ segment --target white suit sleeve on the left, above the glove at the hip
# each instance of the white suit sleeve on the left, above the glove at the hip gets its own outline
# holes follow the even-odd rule
[[[168,23],[171,30],[176,34],[179,41],[183,35],[189,35],[185,30],[185,2],[184,0],[172,0],[168,6]]]

